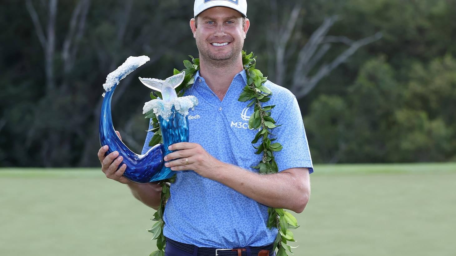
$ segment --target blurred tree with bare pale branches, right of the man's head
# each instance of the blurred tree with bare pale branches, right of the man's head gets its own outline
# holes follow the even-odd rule
[[[326,17],[323,24],[305,40],[301,34],[304,12],[301,3],[297,2],[291,11],[288,8],[277,8],[276,0],[271,0],[270,3],[271,27],[267,38],[270,42],[269,55],[274,55],[275,58],[270,59],[274,63],[269,64],[269,72],[275,82],[286,84],[298,99],[311,92],[321,79],[352,56],[358,48],[382,37],[381,33],[375,33],[373,36],[353,41],[346,36],[327,36],[328,31],[339,20],[338,15],[332,15]],[[283,12],[280,16],[285,16],[283,21],[279,21],[280,11]],[[329,63],[321,63],[321,59],[334,43],[346,44],[349,47]]]

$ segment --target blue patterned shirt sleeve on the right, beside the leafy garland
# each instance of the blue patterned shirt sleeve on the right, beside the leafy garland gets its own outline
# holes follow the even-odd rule
[[[273,113],[274,111],[275,109],[272,110]],[[281,126],[272,129],[271,132],[277,138],[272,143],[278,142],[283,146],[282,150],[274,152],[279,171],[290,168],[308,168],[309,173],[313,173],[306,131],[296,97],[292,97],[286,102],[278,113],[279,116],[275,120],[276,124],[281,124]]]

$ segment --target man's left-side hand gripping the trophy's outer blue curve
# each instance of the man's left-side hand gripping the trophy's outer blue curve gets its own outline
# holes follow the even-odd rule
[[[120,133],[115,131],[120,139]],[[130,184],[131,181],[122,176],[124,174],[125,169],[127,169],[126,164],[122,164],[119,168],[119,164],[122,163],[124,159],[122,156],[119,156],[119,152],[114,151],[107,156],[105,156],[106,152],[108,151],[108,145],[104,145],[103,147],[98,150],[98,159],[101,163],[101,170],[104,172],[107,178],[114,179],[119,181],[123,184]]]

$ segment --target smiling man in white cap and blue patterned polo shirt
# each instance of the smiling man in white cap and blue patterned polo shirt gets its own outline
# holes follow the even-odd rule
[[[176,151],[164,159],[177,171],[164,215],[166,255],[202,255],[202,247],[243,249],[219,255],[253,256],[261,248],[275,255],[271,244],[277,230],[266,226],[268,206],[300,213],[310,197],[313,168],[299,106],[290,91],[269,81],[264,84],[273,94],[268,105],[276,105],[271,116],[282,124],[272,130],[283,146],[275,152],[280,172],[259,175],[252,168],[262,158],[251,144],[257,131],[247,126],[253,107],[238,101],[247,83],[241,57],[250,26],[246,13],[246,0],[195,1],[190,27],[200,71],[186,95],[196,96],[199,105],[188,118],[190,142],[171,145]],[[104,146],[98,152],[106,176],[127,184],[135,198],[157,209],[161,186],[125,179],[122,157],[117,152],[104,157],[106,151]]]

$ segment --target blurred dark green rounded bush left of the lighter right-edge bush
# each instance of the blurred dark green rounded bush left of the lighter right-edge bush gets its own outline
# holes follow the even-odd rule
[[[319,97],[312,103],[309,117],[305,119],[311,150],[313,154],[331,150],[332,154],[324,154],[323,162],[383,162],[387,152],[385,143],[389,139],[385,136],[388,136],[395,109],[402,104],[394,71],[384,56],[371,59],[348,90],[345,101],[332,97],[334,102],[329,103],[328,98]],[[318,111],[316,107],[320,104]],[[321,115],[325,113],[321,111],[323,104],[332,114]],[[312,141],[314,137],[319,140]],[[328,144],[332,144],[332,149],[326,148]]]

